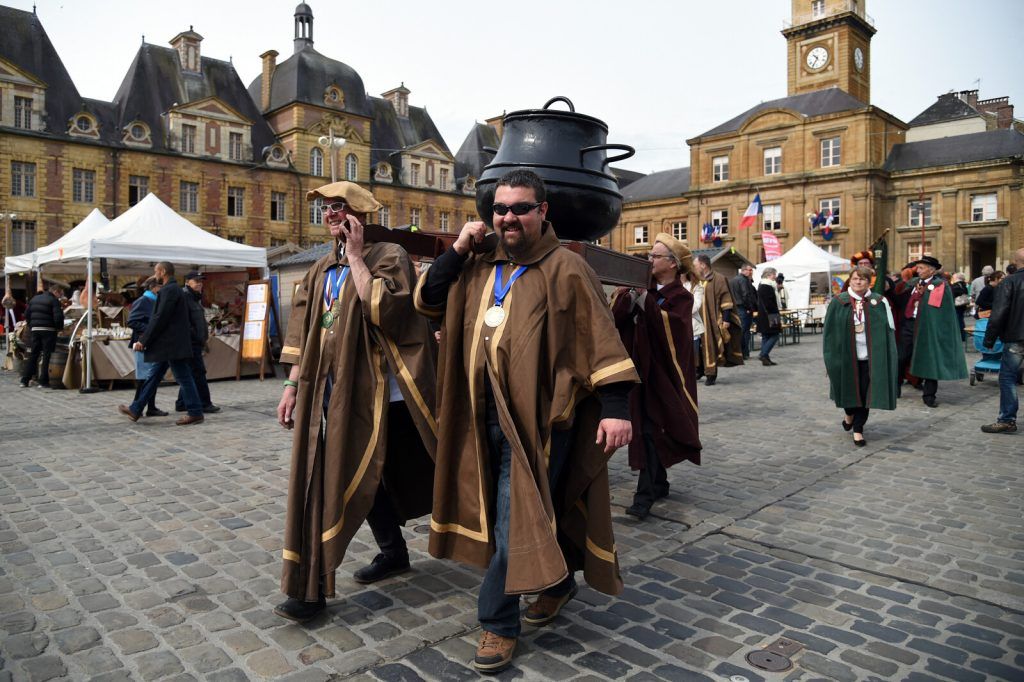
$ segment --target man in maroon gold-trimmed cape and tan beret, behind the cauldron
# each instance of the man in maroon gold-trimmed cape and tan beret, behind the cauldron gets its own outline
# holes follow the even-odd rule
[[[633,433],[630,468],[639,470],[633,505],[626,513],[644,519],[655,500],[669,496],[666,469],[689,460],[700,464],[696,373],[693,367],[693,295],[680,273],[692,267],[689,249],[658,233],[648,256],[655,286],[620,289],[611,311],[623,345],[640,374],[630,394]]]

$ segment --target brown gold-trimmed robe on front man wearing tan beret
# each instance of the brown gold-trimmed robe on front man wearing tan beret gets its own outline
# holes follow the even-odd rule
[[[348,260],[339,260],[336,250],[309,268],[292,302],[281,354],[282,363],[300,368],[281,587],[305,601],[316,601],[322,578],[324,594],[334,596],[334,570],[382,478],[399,518],[430,511],[430,460],[410,456],[385,462],[385,453],[390,371],[433,457],[436,343],[413,307],[416,273],[406,251],[394,244],[368,244],[364,261],[372,276],[370,304],[360,302],[348,276],[330,330],[321,327],[324,279],[330,266]],[[329,375],[333,389],[325,418]]]

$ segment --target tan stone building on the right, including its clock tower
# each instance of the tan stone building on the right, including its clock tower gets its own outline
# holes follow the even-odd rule
[[[611,247],[645,252],[658,231],[697,247],[711,223],[760,262],[764,230],[783,249],[809,236],[843,256],[886,235],[898,266],[920,256],[924,222],[924,252],[947,268],[1004,265],[1024,244],[1024,125],[1006,98],[977,91],[943,95],[909,123],[870,104],[864,4],[793,0],[787,96],[688,139],[690,167],[626,184]],[[764,213],[740,230],[756,195]],[[834,215],[831,239],[808,220],[821,211]]]

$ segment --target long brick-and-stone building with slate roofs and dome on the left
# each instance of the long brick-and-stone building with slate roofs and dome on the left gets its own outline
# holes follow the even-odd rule
[[[266,51],[248,88],[189,27],[170,47],[143,43],[108,102],[79,95],[34,12],[0,6],[0,255],[56,240],[93,208],[114,218],[148,193],[232,241],[321,242],[305,193],[331,181],[332,137],[345,140],[338,179],[385,207],[373,221],[461,226],[472,191],[457,185],[426,110],[404,85],[369,96],[353,69],[313,48],[309,6],[294,18],[293,54],[279,63]]]

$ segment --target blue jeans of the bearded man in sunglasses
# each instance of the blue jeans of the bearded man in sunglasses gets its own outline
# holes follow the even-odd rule
[[[566,451],[571,434],[568,431],[554,431],[551,435],[551,458],[548,471],[551,488],[561,474],[566,459]],[[495,554],[490,557],[487,572],[480,585],[476,611],[480,626],[487,632],[502,637],[518,637],[519,595],[505,594],[505,577],[509,567],[509,518],[511,516],[512,446],[497,424],[487,424],[487,450],[490,455],[490,470],[498,474],[495,505]],[[562,596],[575,587],[575,580],[569,573],[564,581],[549,588],[545,594]]]

